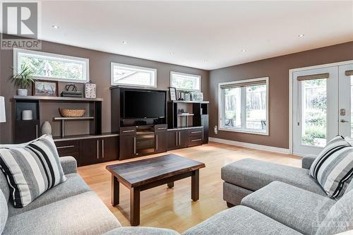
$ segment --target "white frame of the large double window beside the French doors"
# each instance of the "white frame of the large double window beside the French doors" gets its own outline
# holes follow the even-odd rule
[[[232,82],[227,82],[227,83],[218,83],[218,129],[220,131],[232,131],[232,132],[239,132],[239,133],[251,133],[251,134],[256,134],[256,135],[269,135],[269,130],[270,130],[270,120],[269,120],[269,114],[268,114],[268,97],[269,97],[269,83],[268,83],[268,77],[264,78],[252,78],[252,79],[247,79],[247,80],[237,80],[237,81],[232,81]],[[239,85],[241,83],[254,83],[254,82],[261,82],[265,81],[266,84],[266,131],[257,131],[253,129],[247,129],[245,128],[226,128],[225,126],[222,125],[222,109],[224,106],[224,97],[222,96],[222,85]],[[256,84],[254,84],[256,85]],[[245,95],[245,94],[241,94]],[[244,102],[246,102],[246,99],[243,99]],[[246,104],[241,103],[241,112],[245,112],[246,109]],[[246,123],[246,120],[243,120],[244,123]]]

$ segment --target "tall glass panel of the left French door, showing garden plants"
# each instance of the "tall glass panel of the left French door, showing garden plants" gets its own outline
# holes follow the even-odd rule
[[[324,147],[327,133],[327,79],[302,83],[301,144]]]

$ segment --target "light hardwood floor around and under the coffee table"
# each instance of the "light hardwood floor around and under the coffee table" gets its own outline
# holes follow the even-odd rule
[[[222,199],[220,169],[230,162],[242,158],[255,158],[294,167],[301,166],[301,158],[294,155],[251,150],[220,143],[209,143],[170,152],[205,163],[206,167],[200,169],[200,200],[193,202],[190,198],[190,179],[176,181],[174,188],[168,188],[165,185],[143,191],[140,195],[140,226],[169,228],[183,232],[217,212],[227,209],[227,205]],[[100,196],[105,205],[124,226],[130,226],[128,219],[130,194],[127,188],[120,186],[120,204],[116,207],[112,206],[111,174],[105,169],[105,166],[128,161],[132,160],[107,162],[78,168],[80,176]]]

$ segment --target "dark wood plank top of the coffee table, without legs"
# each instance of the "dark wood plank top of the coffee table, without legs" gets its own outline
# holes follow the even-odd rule
[[[107,166],[119,182],[130,188],[205,167],[203,162],[169,154]]]

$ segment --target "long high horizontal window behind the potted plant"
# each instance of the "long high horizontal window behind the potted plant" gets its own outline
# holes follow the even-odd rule
[[[86,83],[89,79],[89,60],[46,52],[13,49],[13,68],[17,73],[28,67],[36,78]]]

